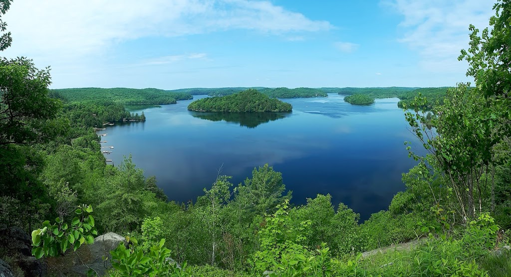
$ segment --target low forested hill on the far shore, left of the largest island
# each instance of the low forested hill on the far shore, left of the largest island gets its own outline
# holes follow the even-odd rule
[[[175,104],[176,100],[193,99],[190,93],[171,92],[162,89],[145,88],[66,88],[51,89],[50,96],[66,102],[113,101],[124,105],[133,104]]]

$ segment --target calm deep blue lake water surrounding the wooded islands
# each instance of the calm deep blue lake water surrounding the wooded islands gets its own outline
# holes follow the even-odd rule
[[[336,208],[342,202],[364,220],[387,209],[392,196],[404,190],[401,173],[416,163],[404,141],[421,144],[408,131],[398,98],[354,106],[343,97],[283,99],[293,105],[291,113],[266,114],[190,112],[193,100],[183,100],[132,111],[144,111],[147,121],[100,132],[108,133],[103,145],[114,146],[107,159],[119,165],[132,154],[146,177],[156,176],[169,200],[195,200],[211,187],[220,167],[237,185],[268,163],[282,172],[292,203],[330,193]]]

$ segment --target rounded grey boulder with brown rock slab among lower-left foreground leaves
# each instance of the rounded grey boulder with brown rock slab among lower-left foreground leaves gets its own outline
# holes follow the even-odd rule
[[[120,243],[127,244],[124,237],[118,234],[99,236],[93,244],[84,244],[75,253],[68,251],[61,257],[49,258],[49,272],[57,276],[87,276],[87,272],[92,270],[103,276],[111,267],[110,250],[117,248]]]

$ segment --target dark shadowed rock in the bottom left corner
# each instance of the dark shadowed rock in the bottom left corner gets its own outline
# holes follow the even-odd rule
[[[18,227],[0,230],[0,248],[5,249],[12,266],[17,266],[26,276],[45,276],[47,264],[32,256],[32,238]],[[14,264],[12,264],[14,263]]]

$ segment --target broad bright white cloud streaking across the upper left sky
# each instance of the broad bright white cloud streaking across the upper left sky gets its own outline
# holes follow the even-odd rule
[[[289,35],[333,28],[269,1],[249,0],[16,0],[4,19],[13,37],[6,55],[53,62],[151,36],[226,30]]]

